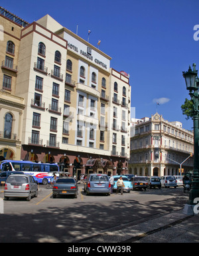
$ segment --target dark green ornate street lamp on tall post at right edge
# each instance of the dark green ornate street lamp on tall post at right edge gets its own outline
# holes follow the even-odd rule
[[[189,95],[193,102],[193,121],[194,121],[194,170],[193,170],[193,181],[192,181],[192,190],[189,193],[189,204],[194,205],[197,202],[194,201],[195,198],[199,197],[199,157],[198,157],[198,104],[199,104],[199,94],[198,94],[198,85],[199,80],[197,77],[198,70],[196,70],[196,64],[193,64],[193,70],[189,66],[187,72],[182,72],[185,82],[186,89],[189,90]]]

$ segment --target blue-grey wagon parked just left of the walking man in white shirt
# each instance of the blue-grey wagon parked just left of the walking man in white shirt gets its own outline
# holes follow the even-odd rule
[[[106,193],[110,195],[111,184],[106,174],[89,174],[84,180],[84,193]]]

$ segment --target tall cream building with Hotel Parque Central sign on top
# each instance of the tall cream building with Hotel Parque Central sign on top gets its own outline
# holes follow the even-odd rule
[[[1,61],[10,57],[6,45],[11,41],[17,65],[17,72],[6,68],[6,74],[1,66],[1,84],[13,72],[9,88],[1,85],[1,92],[7,99],[15,98],[18,111],[15,114],[9,103],[0,115],[1,120],[7,114],[15,120],[10,127],[17,134],[12,142],[20,149],[10,146],[11,138],[6,146],[0,140],[1,160],[56,162],[77,177],[127,172],[129,75],[111,68],[111,57],[49,15],[25,25],[16,25],[2,13],[0,18],[6,23]],[[7,35],[11,26],[18,26],[17,38]],[[1,126],[7,130],[5,121]]]

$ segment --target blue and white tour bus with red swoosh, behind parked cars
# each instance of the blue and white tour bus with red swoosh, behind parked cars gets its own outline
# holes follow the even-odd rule
[[[59,172],[57,164],[40,164],[31,161],[3,160],[0,166],[1,172],[21,171],[24,174],[33,176],[40,184],[48,184],[54,173]]]

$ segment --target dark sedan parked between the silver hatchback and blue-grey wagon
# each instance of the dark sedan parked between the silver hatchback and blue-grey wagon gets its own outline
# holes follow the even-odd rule
[[[59,177],[53,188],[52,197],[55,198],[56,195],[74,195],[75,198],[78,197],[78,183],[74,177]]]

